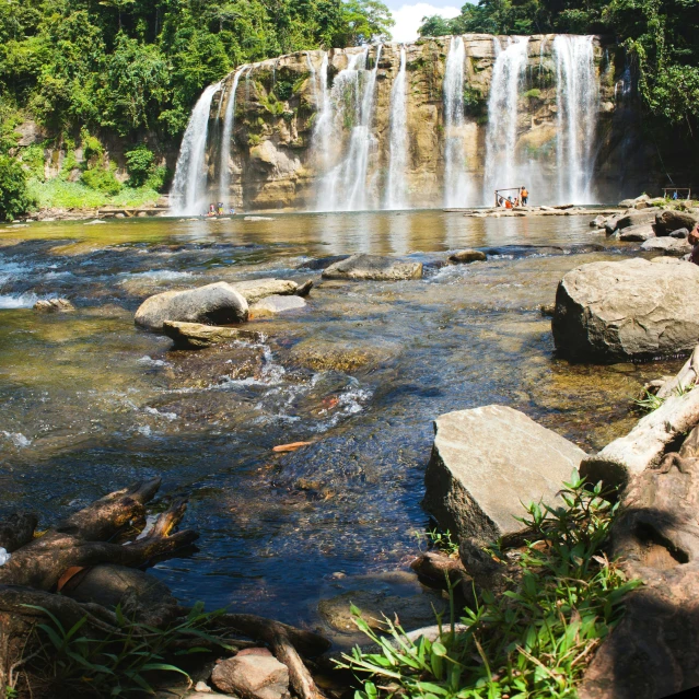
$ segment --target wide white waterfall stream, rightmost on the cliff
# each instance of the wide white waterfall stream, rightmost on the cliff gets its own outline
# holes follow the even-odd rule
[[[569,35],[559,35],[554,39],[558,197],[561,201],[574,203],[593,201],[593,142],[599,86],[592,40],[592,36]]]

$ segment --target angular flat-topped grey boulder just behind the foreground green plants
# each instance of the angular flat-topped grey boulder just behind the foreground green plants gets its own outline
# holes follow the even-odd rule
[[[505,406],[440,416],[424,475],[424,505],[461,540],[521,532],[523,503],[554,504],[585,453]]]

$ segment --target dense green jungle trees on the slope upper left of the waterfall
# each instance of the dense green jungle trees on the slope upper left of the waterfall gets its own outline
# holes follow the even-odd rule
[[[378,0],[0,0],[0,117],[177,136],[233,67],[388,37],[392,24]]]

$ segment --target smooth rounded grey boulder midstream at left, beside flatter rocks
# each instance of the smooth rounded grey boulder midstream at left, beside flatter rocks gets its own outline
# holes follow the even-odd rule
[[[148,330],[163,329],[165,321],[225,325],[247,321],[247,301],[225,281],[188,289],[165,291],[145,299],[135,322]]]

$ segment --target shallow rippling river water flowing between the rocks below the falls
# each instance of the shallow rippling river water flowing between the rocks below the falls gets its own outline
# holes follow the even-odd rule
[[[587,223],[416,211],[7,226],[0,515],[30,508],[50,524],[160,474],[161,502],[188,496],[185,523],[201,535],[153,569],[178,597],[313,626],[331,581],[405,569],[415,554],[438,415],[510,405],[592,451],[638,419],[646,380],[677,370],[555,358],[539,305],[562,275],[638,252]],[[590,243],[606,249],[572,247]],[[439,266],[463,247],[499,251]],[[420,259],[426,278],[319,282],[307,267],[356,252]],[[319,282],[307,308],[253,319],[257,345],[172,352],[133,326],[149,294],[257,277]],[[77,312],[31,308],[56,295]],[[271,451],[295,441],[313,444]]]

